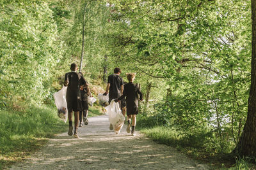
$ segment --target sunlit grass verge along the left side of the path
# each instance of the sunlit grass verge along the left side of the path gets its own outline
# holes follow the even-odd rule
[[[56,109],[49,106],[33,106],[26,112],[0,110],[0,127],[0,169],[35,152],[47,138],[66,131]]]

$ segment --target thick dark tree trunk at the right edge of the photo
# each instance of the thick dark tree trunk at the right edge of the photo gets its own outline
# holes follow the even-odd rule
[[[256,157],[256,0],[252,0],[252,71],[248,113],[244,129],[234,152]]]

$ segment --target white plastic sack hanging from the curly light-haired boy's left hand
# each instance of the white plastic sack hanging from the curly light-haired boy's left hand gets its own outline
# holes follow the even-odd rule
[[[108,113],[109,123],[113,125],[116,134],[121,131],[125,117],[119,108],[119,103],[115,103],[114,99],[111,101],[110,105],[106,107]]]

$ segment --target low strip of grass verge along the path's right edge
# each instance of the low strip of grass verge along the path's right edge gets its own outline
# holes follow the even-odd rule
[[[204,149],[204,143],[194,144],[187,138],[183,138],[178,132],[168,127],[138,127],[140,132],[148,138],[165,145],[173,146],[180,152],[186,153],[189,157],[200,160],[205,164],[209,164],[212,169],[256,169],[255,164],[251,164],[248,158],[233,159],[230,154],[209,153]]]

